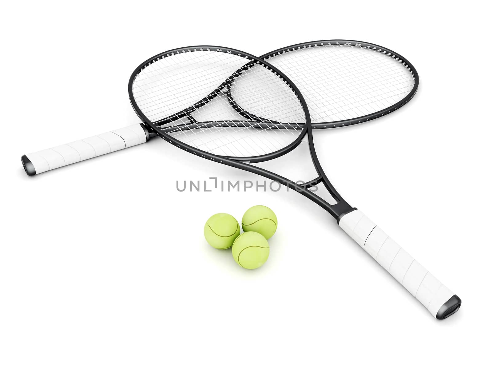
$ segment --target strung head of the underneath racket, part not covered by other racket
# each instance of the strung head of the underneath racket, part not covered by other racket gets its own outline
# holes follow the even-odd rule
[[[393,50],[355,40],[304,42],[264,54],[306,99],[313,129],[388,115],[417,92],[415,67]]]

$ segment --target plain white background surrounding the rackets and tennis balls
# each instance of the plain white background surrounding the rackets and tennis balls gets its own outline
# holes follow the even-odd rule
[[[478,3],[2,5],[0,367],[482,366],[492,129]],[[383,45],[419,72],[400,111],[315,133],[347,201],[461,297],[449,319],[432,318],[299,194],[178,192],[177,180],[263,179],[160,139],[35,177],[22,169],[22,154],[138,123],[127,80],[159,52],[215,44],[260,55],[330,38]],[[310,165],[298,155],[292,167]],[[269,260],[248,271],[202,232],[210,215],[240,219],[256,204],[279,224]]]

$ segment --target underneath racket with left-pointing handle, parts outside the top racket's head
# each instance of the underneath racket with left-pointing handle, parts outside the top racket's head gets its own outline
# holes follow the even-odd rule
[[[408,102],[419,83],[415,68],[406,59],[362,41],[313,41],[278,49],[260,59],[277,66],[300,88],[315,129],[352,125],[387,115]],[[234,103],[232,97],[230,102]],[[23,155],[21,159],[26,173],[34,175],[142,144],[155,136],[151,126],[134,124]]]

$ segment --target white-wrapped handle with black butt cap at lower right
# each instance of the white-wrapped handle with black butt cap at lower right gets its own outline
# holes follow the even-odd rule
[[[435,318],[444,319],[458,311],[461,299],[360,210],[342,215],[338,224]]]

